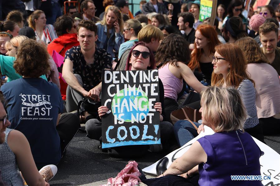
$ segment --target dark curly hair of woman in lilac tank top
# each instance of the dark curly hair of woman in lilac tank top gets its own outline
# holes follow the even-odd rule
[[[190,59],[191,52],[189,44],[186,39],[178,34],[169,34],[166,36],[160,43],[155,55],[158,68],[169,62],[177,67],[179,67],[177,62],[183,62],[187,65]]]

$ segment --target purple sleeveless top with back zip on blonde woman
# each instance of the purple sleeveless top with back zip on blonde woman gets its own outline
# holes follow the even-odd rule
[[[261,175],[261,150],[247,132],[219,132],[197,140],[207,154],[198,166],[199,185],[262,185],[261,181],[231,180],[231,175]]]

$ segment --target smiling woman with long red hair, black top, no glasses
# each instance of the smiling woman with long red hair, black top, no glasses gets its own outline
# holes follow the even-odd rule
[[[193,72],[195,70],[202,72],[202,84],[206,86],[211,84],[211,74],[213,71],[212,56],[215,53],[215,46],[218,44],[220,44],[220,41],[214,27],[210,25],[199,25],[197,27],[194,42],[195,48],[192,51],[188,67]]]

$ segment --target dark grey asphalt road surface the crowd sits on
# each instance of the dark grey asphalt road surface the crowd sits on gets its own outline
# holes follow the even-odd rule
[[[280,154],[280,135],[265,136],[265,142]],[[99,141],[85,137],[85,133],[78,132],[75,138],[67,147],[66,155],[60,161],[58,172],[50,180],[53,186],[87,186],[99,185],[101,180],[106,180],[122,170],[130,159],[112,158],[107,153],[98,149]],[[131,152],[133,153],[133,152]],[[152,165],[164,153],[148,152],[144,157],[135,158],[141,168]],[[103,183],[103,184],[106,184]]]

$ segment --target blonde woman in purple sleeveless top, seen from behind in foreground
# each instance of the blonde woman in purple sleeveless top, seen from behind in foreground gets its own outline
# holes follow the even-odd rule
[[[141,181],[149,186],[196,185],[190,177],[199,173],[198,184],[203,186],[262,185],[261,180],[231,180],[230,175],[261,175],[261,150],[244,132],[247,114],[238,90],[209,87],[202,91],[201,106],[202,124],[215,133],[199,138],[158,178]]]

